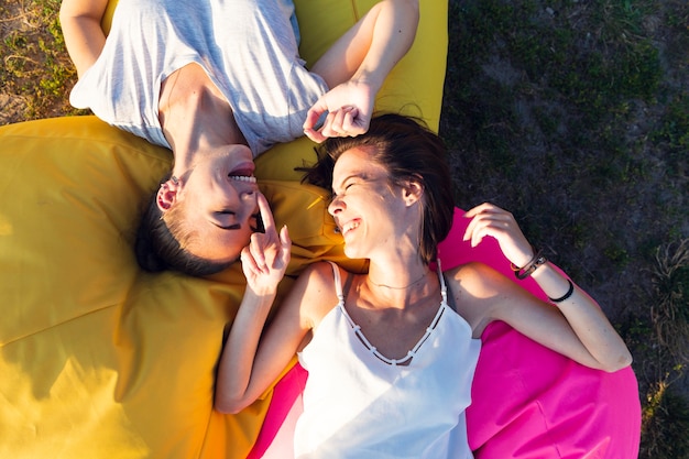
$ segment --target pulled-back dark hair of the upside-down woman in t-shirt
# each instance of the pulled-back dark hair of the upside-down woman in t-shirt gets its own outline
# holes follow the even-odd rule
[[[165,182],[168,177],[165,177]],[[183,206],[177,205],[171,210],[163,212],[156,204],[157,190],[149,199],[144,208],[134,253],[139,265],[149,272],[157,273],[173,270],[193,276],[205,276],[218,273],[228,267],[232,262],[216,262],[194,255],[184,247],[194,238],[194,234],[185,229]],[[169,225],[169,226],[168,226]]]

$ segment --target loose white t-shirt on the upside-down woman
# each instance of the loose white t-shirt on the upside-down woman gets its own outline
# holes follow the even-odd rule
[[[161,84],[192,63],[225,95],[254,156],[303,135],[306,111],[328,89],[298,56],[285,0],[120,0],[101,55],[69,101],[169,147]]]

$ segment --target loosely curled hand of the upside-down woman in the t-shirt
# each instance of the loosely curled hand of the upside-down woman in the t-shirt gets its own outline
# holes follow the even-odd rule
[[[357,136],[369,130],[375,90],[368,84],[349,80],[322,95],[308,110],[304,133],[314,142],[327,138]],[[315,125],[328,112],[320,129]]]

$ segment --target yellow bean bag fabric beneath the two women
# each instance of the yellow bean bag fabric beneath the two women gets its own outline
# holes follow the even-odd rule
[[[319,53],[373,1],[297,1],[304,55]],[[415,102],[437,129],[447,4],[422,2],[413,51],[381,107]],[[342,255],[326,195],[293,181],[313,160],[300,139],[256,175],[295,242],[288,274]],[[225,325],[243,292],[239,265],[211,278],[142,272],[140,205],[171,154],[94,117],[0,128],[0,457],[243,458],[270,391],[243,413],[212,411]],[[287,278],[282,292],[288,288]]]

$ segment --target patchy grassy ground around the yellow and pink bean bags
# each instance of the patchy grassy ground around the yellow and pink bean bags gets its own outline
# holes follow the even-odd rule
[[[0,0],[0,123],[72,114],[58,0]],[[450,0],[460,207],[510,209],[634,354],[642,458],[689,458],[689,4]]]

